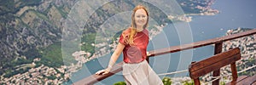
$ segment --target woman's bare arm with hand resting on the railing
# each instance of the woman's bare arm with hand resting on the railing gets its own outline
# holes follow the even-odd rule
[[[97,71],[96,75],[107,74],[112,69],[113,65],[115,64],[116,60],[119,58],[119,55],[122,53],[124,48],[125,48],[125,45],[119,42],[117,48],[114,50],[113,54],[111,55],[111,58],[109,59],[108,68],[105,70]]]

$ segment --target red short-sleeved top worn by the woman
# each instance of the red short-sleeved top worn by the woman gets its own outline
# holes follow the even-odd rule
[[[135,45],[127,44],[124,37],[120,35],[119,42],[125,45],[123,50],[125,63],[139,63],[147,58],[148,30],[137,32],[133,42]]]

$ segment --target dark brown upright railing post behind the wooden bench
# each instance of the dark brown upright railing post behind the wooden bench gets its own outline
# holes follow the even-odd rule
[[[223,42],[215,43],[214,54],[220,54],[222,52]],[[220,75],[220,69],[213,71],[212,77],[218,77]],[[219,79],[212,82],[212,85],[219,85]]]

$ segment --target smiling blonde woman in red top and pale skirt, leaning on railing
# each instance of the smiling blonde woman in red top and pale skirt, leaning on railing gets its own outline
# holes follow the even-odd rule
[[[108,68],[96,75],[107,74],[121,52],[124,54],[123,76],[127,85],[163,85],[146,60],[148,46],[148,10],[142,5],[133,9],[131,27],[122,32],[109,60]]]

